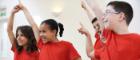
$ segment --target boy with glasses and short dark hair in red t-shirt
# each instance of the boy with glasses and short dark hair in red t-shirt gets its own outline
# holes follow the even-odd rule
[[[139,60],[140,35],[130,33],[128,26],[133,17],[129,3],[112,1],[107,5],[103,16],[104,28],[101,35],[96,33],[96,43],[87,42],[87,48],[92,60]],[[101,23],[100,23],[101,24]],[[84,27],[79,30],[91,41],[90,34]],[[102,36],[102,37],[101,37]]]

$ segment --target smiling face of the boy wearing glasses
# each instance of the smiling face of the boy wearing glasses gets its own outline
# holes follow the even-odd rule
[[[120,20],[121,20],[120,13],[116,12],[113,9],[113,6],[108,5],[103,16],[105,28],[113,30],[116,26],[118,26],[118,24],[121,23]]]

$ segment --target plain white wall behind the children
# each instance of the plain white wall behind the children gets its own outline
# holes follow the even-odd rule
[[[1,2],[2,0],[0,0]],[[102,8],[105,8],[105,5],[110,0],[98,0]],[[134,18],[132,23],[130,24],[130,31],[131,32],[137,32],[140,33],[139,28],[139,19],[140,19],[140,1],[138,0],[125,0],[132,4],[134,8]],[[83,60],[90,60],[86,56],[86,49],[85,49],[85,36],[78,33],[77,29],[80,27],[79,23],[83,23],[84,26],[91,32],[93,41],[94,40],[94,30],[92,28],[92,24],[88,20],[84,10],[80,6],[80,0],[22,0],[25,6],[29,9],[30,13],[34,17],[36,23],[39,25],[41,21],[49,18],[55,18],[53,16],[53,11],[55,9],[62,8],[62,12],[58,16],[57,19],[59,22],[62,22],[64,24],[64,35],[63,38],[66,41],[69,41],[73,43],[74,47],[78,50]],[[3,0],[3,3],[7,6],[7,15],[9,16],[10,10],[18,4],[17,0]],[[16,29],[19,25],[25,25],[28,24],[23,13],[20,12],[17,14],[15,18],[15,26],[14,29]],[[2,30],[3,28],[0,27]],[[15,31],[15,30],[14,30]],[[0,35],[1,37],[1,35]],[[5,36],[4,36],[5,37]],[[8,37],[5,37],[8,38]],[[8,42],[8,39],[7,41]],[[5,42],[5,43],[6,43]],[[2,52],[7,52],[10,50],[10,47],[6,44],[0,44],[3,47],[7,47],[7,50],[3,50]],[[9,48],[9,50],[8,50]],[[1,52],[1,51],[0,51]],[[9,52],[9,55],[6,55],[7,57],[11,58],[11,52]],[[1,56],[1,55],[0,55]]]

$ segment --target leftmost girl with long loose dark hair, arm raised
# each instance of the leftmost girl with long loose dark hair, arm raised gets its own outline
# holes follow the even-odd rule
[[[19,10],[21,10],[19,5],[14,7],[7,26],[7,33],[12,44],[12,51],[14,52],[14,60],[38,60],[39,52],[32,28],[28,25],[19,26],[16,29],[16,36],[14,36],[13,20]]]

